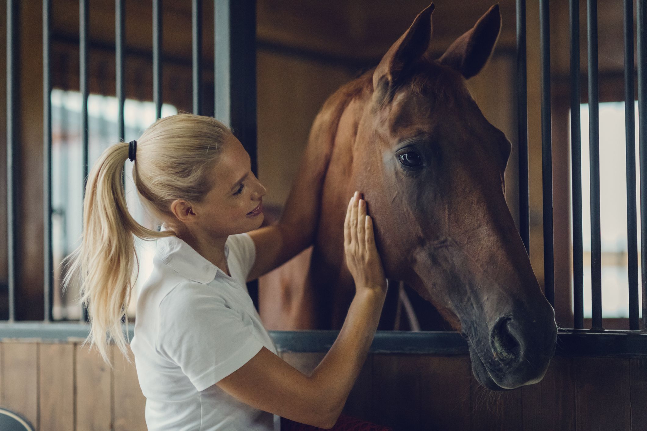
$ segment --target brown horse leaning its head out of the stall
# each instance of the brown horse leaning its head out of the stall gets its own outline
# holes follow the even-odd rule
[[[505,202],[510,142],[465,86],[490,58],[499,8],[439,59],[427,54],[432,11],[433,3],[314,120],[308,145],[332,146],[315,244],[261,280],[261,317],[272,329],[342,326],[355,291],[342,227],[358,190],[387,277],[411,286],[463,333],[483,386],[518,388],[542,379],[557,330]],[[309,268],[291,272],[304,258]]]

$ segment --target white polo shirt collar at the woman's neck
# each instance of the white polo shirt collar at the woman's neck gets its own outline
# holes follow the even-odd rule
[[[166,225],[162,224],[160,231],[167,230]],[[155,255],[182,277],[199,283],[212,282],[219,272],[225,277],[229,277],[225,271],[209,262],[184,240],[175,236],[158,238]],[[225,243],[225,259],[228,256],[229,246]]]

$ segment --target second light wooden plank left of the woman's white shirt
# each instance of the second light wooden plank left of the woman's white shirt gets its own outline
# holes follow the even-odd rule
[[[109,430],[112,420],[111,372],[96,350],[77,344],[76,429]]]

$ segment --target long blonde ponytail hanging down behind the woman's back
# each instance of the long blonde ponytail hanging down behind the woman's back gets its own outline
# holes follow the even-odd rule
[[[107,364],[111,364],[111,340],[127,356],[122,321],[127,322],[126,310],[137,280],[137,273],[132,277],[135,264],[139,269],[135,236],[154,240],[172,235],[146,229],[128,212],[122,182],[127,159],[128,143],[120,142],[107,148],[94,164],[83,198],[83,239],[64,260],[69,270],[63,286],[80,280],[80,301],[90,317],[86,342],[98,348]]]

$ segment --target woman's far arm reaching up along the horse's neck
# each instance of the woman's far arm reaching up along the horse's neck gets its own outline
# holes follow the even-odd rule
[[[249,233],[256,246],[256,260],[247,281],[278,268],[313,244],[330,152],[307,145],[279,222]]]

